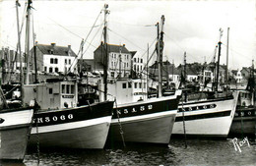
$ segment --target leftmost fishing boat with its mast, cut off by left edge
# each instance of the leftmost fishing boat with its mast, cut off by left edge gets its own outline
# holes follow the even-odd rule
[[[19,5],[19,2],[16,1],[17,16]],[[19,19],[19,17],[17,18]],[[19,55],[22,56],[18,19],[18,48]],[[3,71],[5,70],[6,69],[3,69]],[[8,72],[10,73],[10,68]],[[21,75],[20,78],[23,80],[23,75]],[[23,83],[21,89],[23,89]],[[14,103],[7,102],[6,94],[7,93],[3,92],[2,87],[0,87],[0,160],[23,161],[32,130],[32,119],[35,109],[34,102],[31,102],[31,100],[28,101],[28,105],[31,106],[25,106],[23,102],[21,102],[21,105],[15,103],[16,108],[12,108]],[[19,105],[21,107],[19,107]]]

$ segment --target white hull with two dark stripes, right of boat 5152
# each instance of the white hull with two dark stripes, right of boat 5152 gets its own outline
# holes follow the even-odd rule
[[[184,103],[183,105],[180,103],[172,136],[184,135],[182,114],[182,110],[184,110],[187,137],[226,138],[234,117],[237,94],[234,92],[231,98]]]

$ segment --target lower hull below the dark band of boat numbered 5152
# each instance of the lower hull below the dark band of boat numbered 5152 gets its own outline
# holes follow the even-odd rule
[[[134,118],[121,118],[121,126],[124,132],[124,141],[169,143],[176,110],[161,113],[137,116]],[[116,119],[112,120],[110,138],[122,141],[119,124]]]

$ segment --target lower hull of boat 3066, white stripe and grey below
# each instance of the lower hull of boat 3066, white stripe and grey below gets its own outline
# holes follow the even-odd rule
[[[30,144],[43,147],[103,148],[111,116],[32,128]],[[38,137],[38,138],[37,138]]]

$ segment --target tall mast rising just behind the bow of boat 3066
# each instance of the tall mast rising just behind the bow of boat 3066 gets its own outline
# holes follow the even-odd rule
[[[103,28],[103,34],[104,34],[104,74],[103,74],[103,83],[104,83],[104,100],[107,100],[107,68],[108,68],[108,51],[107,51],[107,22],[106,22],[106,16],[109,14],[109,11],[107,10],[108,5],[104,5],[104,28]]]

